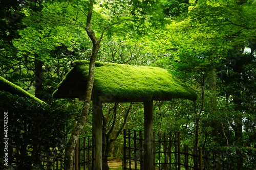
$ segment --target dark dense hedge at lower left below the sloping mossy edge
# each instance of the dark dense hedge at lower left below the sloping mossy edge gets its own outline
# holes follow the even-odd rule
[[[63,157],[72,127],[71,110],[62,110],[56,104],[46,105],[5,91],[0,91],[0,97],[4,99],[0,101],[1,112],[8,112],[8,159],[13,168],[41,169],[41,162],[51,166],[52,160]],[[1,128],[4,129],[3,124]],[[3,153],[4,150],[1,150],[1,155]]]

